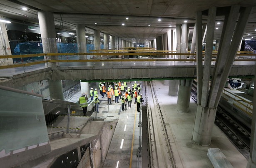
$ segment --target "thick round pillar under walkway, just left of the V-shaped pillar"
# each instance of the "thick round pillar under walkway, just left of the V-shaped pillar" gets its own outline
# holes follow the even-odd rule
[[[179,80],[177,111],[181,113],[189,112],[192,81],[191,79]]]

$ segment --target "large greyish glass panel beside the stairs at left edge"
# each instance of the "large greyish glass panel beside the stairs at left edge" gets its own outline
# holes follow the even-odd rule
[[[49,141],[42,98],[0,89],[0,151]]]

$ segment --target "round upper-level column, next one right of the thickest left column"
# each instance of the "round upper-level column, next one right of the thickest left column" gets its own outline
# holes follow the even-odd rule
[[[77,28],[77,49],[79,53],[86,53],[85,25],[76,24]],[[79,59],[87,59],[86,55],[80,55]]]

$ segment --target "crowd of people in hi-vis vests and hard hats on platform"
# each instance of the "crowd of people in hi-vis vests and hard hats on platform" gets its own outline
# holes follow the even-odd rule
[[[107,85],[106,85],[107,84]],[[106,88],[106,86],[107,88]],[[127,82],[100,82],[99,83],[99,94],[104,98],[104,96],[107,96],[107,104],[112,104],[111,101],[115,101],[115,103],[119,103],[119,99],[121,99],[122,102],[122,111],[124,111],[124,104],[127,104],[128,102],[128,109],[131,108],[132,105],[132,98],[134,98],[134,104],[137,103],[137,111],[139,111],[140,103],[143,102],[142,94],[139,94],[141,91],[140,84],[137,84],[135,81],[134,84],[132,84],[132,87],[127,87]],[[122,95],[122,96],[121,96]],[[94,102],[94,111],[97,111],[99,113],[99,95],[98,95],[98,89],[93,88],[90,89],[90,97],[91,100]],[[80,103],[80,106],[83,109],[84,116],[86,116],[87,111],[87,103],[88,97],[85,93],[82,93],[82,96],[79,98],[78,103]]]

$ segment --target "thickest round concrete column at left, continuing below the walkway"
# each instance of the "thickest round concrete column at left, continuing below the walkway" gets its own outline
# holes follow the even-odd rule
[[[38,20],[42,38],[42,46],[44,53],[57,53],[56,32],[54,17],[52,12],[38,11]],[[45,59],[58,59],[58,56],[45,56]],[[57,67],[56,63],[48,63],[49,67]],[[49,91],[51,99],[63,100],[63,90],[61,81],[49,80]]]

